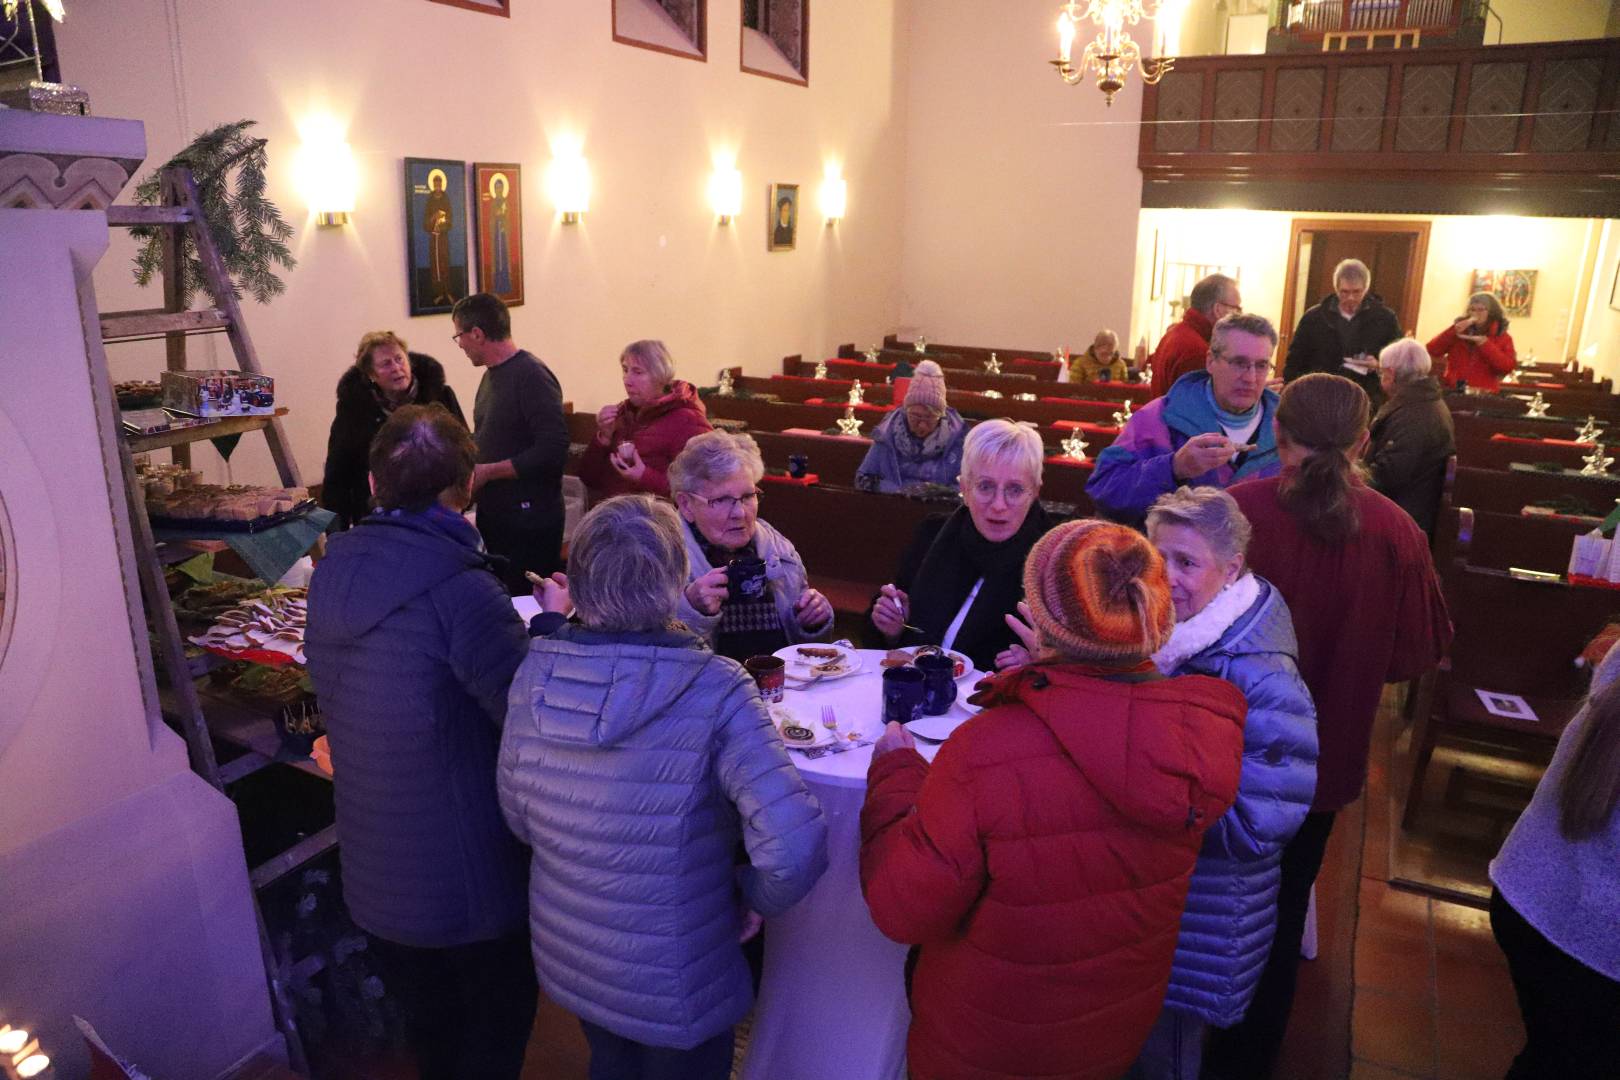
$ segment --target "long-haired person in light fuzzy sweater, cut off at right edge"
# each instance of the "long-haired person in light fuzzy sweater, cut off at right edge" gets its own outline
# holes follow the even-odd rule
[[[1620,649],[1592,674],[1524,816],[1490,863],[1490,929],[1524,1015],[1508,1080],[1620,1062]]]

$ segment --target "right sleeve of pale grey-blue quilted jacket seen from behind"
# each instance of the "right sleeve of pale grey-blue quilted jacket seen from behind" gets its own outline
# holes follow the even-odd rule
[[[826,818],[787,759],[753,680],[739,670],[737,683],[721,706],[716,772],[742,818],[744,904],[765,916],[781,915],[826,871]]]

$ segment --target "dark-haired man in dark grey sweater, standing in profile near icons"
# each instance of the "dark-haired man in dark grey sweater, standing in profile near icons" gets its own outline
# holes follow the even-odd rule
[[[484,369],[473,403],[478,468],[478,531],[484,547],[507,560],[502,581],[528,593],[525,570],[562,568],[562,466],[569,426],[562,387],[546,364],[512,343],[512,316],[499,296],[473,293],[450,313],[455,343]]]

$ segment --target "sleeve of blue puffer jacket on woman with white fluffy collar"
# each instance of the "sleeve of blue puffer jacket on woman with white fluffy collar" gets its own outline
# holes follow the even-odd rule
[[[1257,860],[1304,824],[1315,797],[1317,725],[1311,691],[1291,659],[1239,661],[1228,678],[1249,699],[1238,801],[1204,834],[1204,853]]]

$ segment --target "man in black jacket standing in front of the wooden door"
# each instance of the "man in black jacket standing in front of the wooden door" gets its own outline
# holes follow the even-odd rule
[[[1288,342],[1283,381],[1293,382],[1312,371],[1345,376],[1362,390],[1372,411],[1383,405],[1377,358],[1390,342],[1400,340],[1401,324],[1372,290],[1372,270],[1361,259],[1345,259],[1333,267],[1333,293],[1299,319]],[[1345,361],[1356,361],[1354,368]]]

